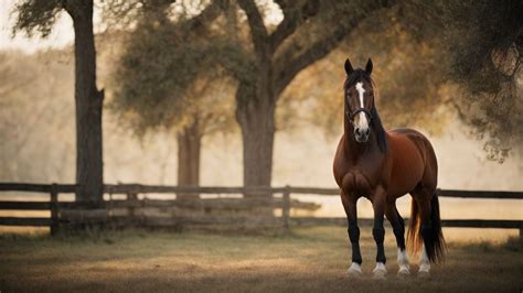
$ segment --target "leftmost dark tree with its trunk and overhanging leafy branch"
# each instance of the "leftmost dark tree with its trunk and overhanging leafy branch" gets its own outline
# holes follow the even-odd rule
[[[97,202],[103,196],[102,105],[104,91],[96,88],[96,51],[93,0],[25,0],[18,12],[13,33],[50,34],[57,14],[65,10],[75,32],[76,183],[77,200]]]

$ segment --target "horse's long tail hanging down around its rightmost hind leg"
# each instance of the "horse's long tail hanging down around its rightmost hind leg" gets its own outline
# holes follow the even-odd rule
[[[418,203],[413,197],[410,219],[408,220],[407,246],[412,252],[417,252],[421,248],[421,245],[425,243],[428,259],[430,262],[437,263],[444,260],[446,251],[437,194],[434,194],[430,199],[429,210],[430,215],[421,215]],[[421,225],[425,217],[430,219],[427,227]]]

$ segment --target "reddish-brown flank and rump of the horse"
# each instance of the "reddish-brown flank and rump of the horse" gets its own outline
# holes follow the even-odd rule
[[[437,162],[428,139],[414,129],[387,131],[393,166],[388,191],[402,196],[418,184],[436,188]]]

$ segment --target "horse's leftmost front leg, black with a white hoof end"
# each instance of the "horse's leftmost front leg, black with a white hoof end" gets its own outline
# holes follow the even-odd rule
[[[361,276],[363,272],[361,269],[362,254],[360,252],[360,228],[357,227],[357,198],[354,196],[348,196],[342,192],[341,202],[346,214],[349,240],[352,247],[352,264],[346,272],[352,276]]]

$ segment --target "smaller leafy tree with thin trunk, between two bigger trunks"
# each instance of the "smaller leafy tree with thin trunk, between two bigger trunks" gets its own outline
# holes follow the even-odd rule
[[[138,137],[147,131],[174,132],[178,184],[196,186],[203,137],[233,129],[228,99],[233,83],[223,69],[206,62],[210,32],[201,28],[198,19],[170,21],[168,8],[169,4],[141,8],[137,28],[125,42],[111,77],[115,90],[110,109]],[[213,18],[213,11],[220,10],[209,7],[200,18]],[[198,35],[188,34],[194,30]],[[189,40],[192,46],[181,45]],[[195,66],[196,61],[205,70]]]

